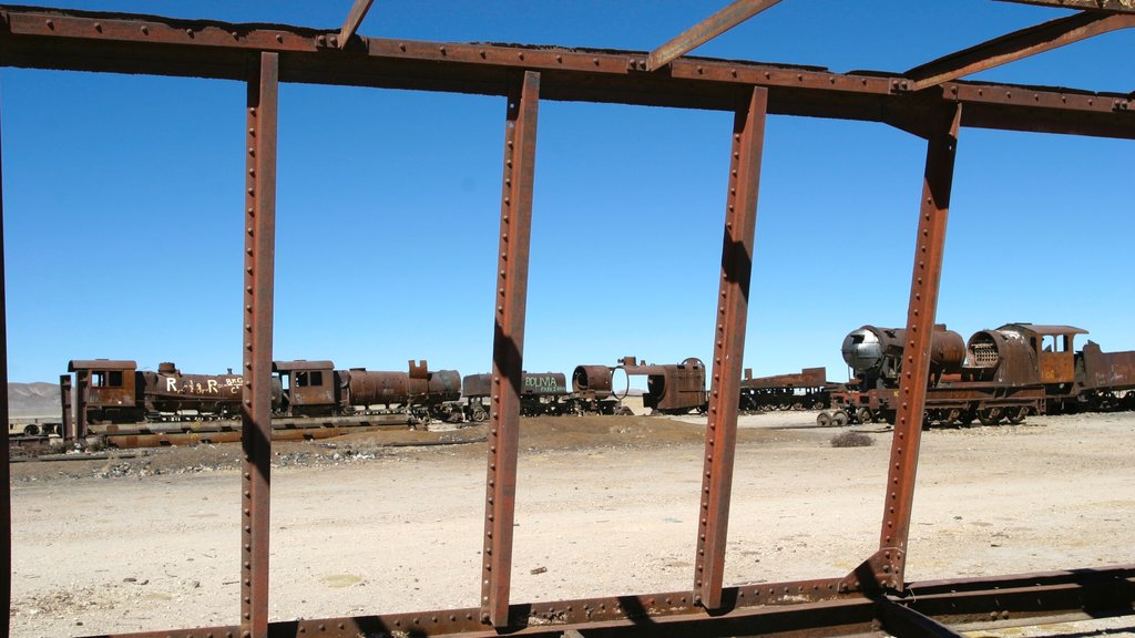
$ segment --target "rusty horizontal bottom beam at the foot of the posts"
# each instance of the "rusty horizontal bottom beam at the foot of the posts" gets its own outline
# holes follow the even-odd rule
[[[586,636],[839,636],[877,632],[888,616],[920,614],[931,623],[955,626],[994,620],[1019,621],[1059,616],[1130,615],[1135,603],[1135,565],[911,582],[917,596],[833,595],[832,581],[766,582],[728,588],[728,608],[707,614],[691,604],[689,593],[658,593],[512,605],[510,635],[558,638],[569,631]],[[765,596],[765,591],[768,593]],[[759,595],[754,595],[759,594]],[[881,608],[881,603],[893,605]],[[479,622],[478,608],[436,610],[353,618],[274,622],[270,638],[412,635],[499,636]],[[890,628],[902,631],[901,619]],[[932,624],[926,624],[933,629]],[[120,633],[131,638],[236,638],[236,627]],[[636,632],[637,630],[637,632]]]

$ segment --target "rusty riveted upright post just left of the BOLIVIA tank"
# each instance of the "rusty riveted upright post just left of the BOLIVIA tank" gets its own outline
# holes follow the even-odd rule
[[[508,94],[505,123],[501,249],[493,317],[493,385],[489,404],[481,622],[508,624],[512,526],[516,507],[516,445],[520,437],[528,249],[532,227],[536,120],[540,74],[526,72]]]

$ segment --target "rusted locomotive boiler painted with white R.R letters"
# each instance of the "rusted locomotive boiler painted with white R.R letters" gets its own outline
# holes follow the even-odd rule
[[[183,375],[170,362],[158,366],[157,372],[138,372],[144,384],[148,412],[195,410],[218,417],[241,410],[239,375]]]

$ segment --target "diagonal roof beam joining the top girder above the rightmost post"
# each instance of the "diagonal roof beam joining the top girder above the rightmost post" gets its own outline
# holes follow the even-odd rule
[[[1043,53],[1065,44],[1079,42],[1101,33],[1132,26],[1135,26],[1135,15],[1083,11],[1023,28],[962,51],[943,56],[908,70],[906,76],[914,81],[911,89],[919,91],[1036,53]]]

